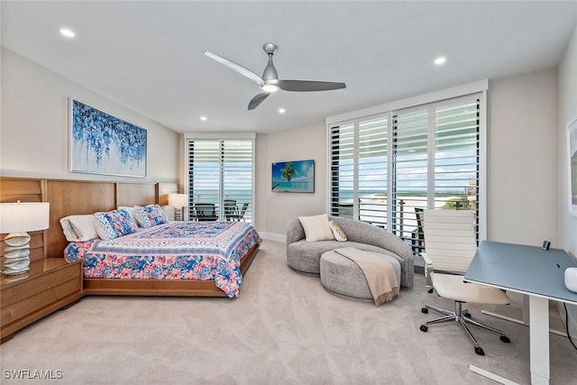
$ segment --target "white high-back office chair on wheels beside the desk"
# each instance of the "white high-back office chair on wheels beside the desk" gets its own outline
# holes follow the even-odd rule
[[[473,225],[472,210],[425,210],[423,224],[425,233],[425,274],[427,287],[435,290],[439,297],[453,299],[453,311],[426,305],[421,308],[423,313],[434,310],[442,314],[438,318],[426,321],[420,326],[422,332],[428,330],[428,325],[455,321],[463,326],[475,348],[475,353],[484,355],[481,346],[472,335],[467,324],[480,326],[499,335],[504,343],[509,343],[508,337],[500,330],[482,324],[472,318],[468,310],[463,310],[463,303],[508,305],[507,295],[500,289],[490,288],[476,283],[464,282],[464,272],[469,268],[475,252],[477,240]],[[456,274],[455,274],[456,273]],[[429,292],[431,292],[429,290]]]

